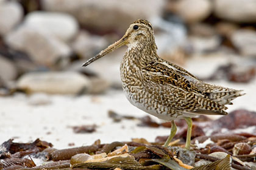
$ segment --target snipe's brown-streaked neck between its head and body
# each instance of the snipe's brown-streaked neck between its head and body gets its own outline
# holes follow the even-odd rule
[[[129,63],[140,66],[146,66],[158,58],[155,41],[138,41],[129,44],[123,60],[129,60]]]

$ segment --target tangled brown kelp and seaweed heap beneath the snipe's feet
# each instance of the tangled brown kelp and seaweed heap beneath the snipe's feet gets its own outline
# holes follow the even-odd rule
[[[30,158],[13,158],[16,153],[11,154],[10,158],[1,158],[0,169],[9,168],[19,170],[39,170],[39,169],[219,169],[222,167],[224,170],[232,168],[240,170],[249,170],[250,166],[254,166],[256,154],[241,155],[235,154],[234,148],[230,148],[227,151],[218,146],[218,144],[232,143],[233,146],[244,146],[247,144],[250,148],[250,152],[253,150],[253,146],[256,142],[255,137],[247,135],[247,137],[239,135],[213,135],[202,141],[201,147],[194,148],[194,151],[188,151],[187,149],[180,148],[183,144],[176,143],[179,146],[168,146],[168,148],[161,145],[152,145],[143,138],[138,138],[133,141],[119,142],[114,141],[109,144],[101,144],[96,142],[90,146],[81,146],[69,149],[54,149],[46,148],[41,149],[36,154],[33,154]],[[204,137],[204,136],[203,136]],[[197,137],[198,138],[198,137]],[[224,141],[225,140],[225,141]],[[6,141],[2,146],[9,146],[12,140]],[[36,140],[37,141],[37,140]],[[97,140],[99,141],[99,140]],[[147,144],[145,144],[145,141]],[[220,142],[221,141],[221,142]],[[243,142],[240,142],[243,141]],[[245,143],[244,141],[247,141]],[[142,143],[137,143],[142,142]],[[34,142],[35,143],[35,142]],[[207,143],[213,144],[209,147]],[[31,143],[29,143],[32,145]],[[18,144],[17,144],[18,145]],[[30,146],[28,145],[28,146]],[[247,147],[246,145],[246,147]],[[21,148],[26,148],[24,143],[21,143]],[[40,146],[40,145],[39,145]],[[231,145],[230,145],[231,146]],[[204,148],[205,147],[205,148]],[[208,154],[201,154],[202,149],[208,149]],[[2,149],[3,150],[3,149]],[[1,150],[1,151],[2,151]],[[6,150],[6,148],[5,148]],[[28,151],[27,149],[26,151]],[[39,150],[39,149],[38,149]],[[219,152],[219,151],[226,152]],[[217,151],[217,152],[215,152]],[[249,153],[250,153],[249,152]],[[246,152],[247,153],[247,152]],[[45,157],[43,161],[45,165],[36,166],[33,159],[42,156]],[[232,156],[232,160],[231,157]],[[48,163],[48,160],[54,161]],[[24,164],[22,164],[24,162]],[[248,162],[248,163],[247,163]],[[22,165],[21,165],[22,164]],[[28,165],[27,165],[28,164]],[[195,166],[196,165],[196,166]],[[71,168],[70,168],[71,167]],[[222,168],[223,169],[223,168]]]

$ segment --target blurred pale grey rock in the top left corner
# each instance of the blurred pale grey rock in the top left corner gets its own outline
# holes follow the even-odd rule
[[[5,35],[23,18],[23,9],[18,2],[0,2],[0,35]]]

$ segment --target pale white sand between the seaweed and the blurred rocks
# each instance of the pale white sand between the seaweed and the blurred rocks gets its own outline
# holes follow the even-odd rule
[[[209,75],[219,62],[229,59],[194,58],[188,61],[185,68],[196,75]],[[204,63],[204,64],[202,64]],[[118,71],[118,70],[117,70]],[[212,82],[235,89],[244,89],[246,95],[233,101],[228,112],[235,109],[256,110],[256,80],[249,84],[233,84],[226,81]],[[113,123],[108,118],[108,110],[122,115],[143,117],[143,111],[132,106],[121,90],[110,90],[104,95],[83,95],[80,97],[60,95],[39,95],[41,100],[50,102],[46,105],[30,104],[38,98],[38,94],[27,97],[16,94],[13,97],[0,98],[0,143],[15,138],[16,142],[34,141],[36,138],[54,144],[55,148],[68,148],[92,144],[101,139],[102,143],[112,141],[130,141],[131,138],[146,138],[154,141],[157,135],[169,135],[170,129],[159,127],[138,127],[138,120],[122,120]],[[154,117],[152,117],[154,118]],[[218,118],[215,116],[215,118]],[[157,120],[157,118],[154,118]],[[157,120],[160,121],[160,120]],[[75,134],[70,126],[96,124],[96,132],[91,134]]]

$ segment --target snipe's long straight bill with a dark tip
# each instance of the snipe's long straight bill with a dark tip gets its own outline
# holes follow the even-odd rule
[[[121,46],[126,45],[127,43],[127,35],[124,35],[123,38],[116,41],[114,44],[107,47],[107,49],[102,50],[98,55],[93,56],[93,58],[90,58],[87,62],[85,62],[82,66],[88,66],[89,64],[93,63],[93,61],[98,60],[99,58],[102,58],[102,56],[107,55],[110,52],[113,52],[113,50],[118,49]]]

